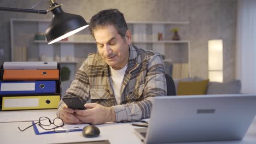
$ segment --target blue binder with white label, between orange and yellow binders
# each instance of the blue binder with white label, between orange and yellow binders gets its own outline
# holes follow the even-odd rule
[[[56,81],[0,81],[0,95],[55,93]]]

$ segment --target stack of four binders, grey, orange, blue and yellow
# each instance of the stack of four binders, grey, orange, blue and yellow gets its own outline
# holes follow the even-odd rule
[[[4,62],[2,110],[54,109],[60,101],[57,62]]]

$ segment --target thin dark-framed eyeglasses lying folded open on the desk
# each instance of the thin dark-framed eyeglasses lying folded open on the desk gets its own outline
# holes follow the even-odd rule
[[[38,124],[38,123],[39,123],[39,126],[40,126],[42,129],[44,129],[44,130],[51,130],[51,129],[56,129],[56,128],[59,128],[59,127],[63,127],[63,126],[64,126],[64,122],[63,122],[62,119],[60,119],[60,118],[54,118],[53,122],[51,122],[50,118],[48,118],[48,117],[40,117],[40,118],[39,118],[39,121],[38,121],[37,123],[33,123],[32,125],[28,126],[27,128],[25,128],[25,129],[23,129],[23,130],[21,130],[20,127],[18,127],[18,128],[19,128],[20,131],[24,131],[24,130],[26,130],[26,129],[28,129],[28,128],[30,128],[30,127],[32,127],[33,125]],[[54,124],[56,127],[54,127],[54,128],[48,128],[48,129],[42,127],[42,125],[44,125],[44,126],[49,126],[49,125],[51,125],[51,124]]]

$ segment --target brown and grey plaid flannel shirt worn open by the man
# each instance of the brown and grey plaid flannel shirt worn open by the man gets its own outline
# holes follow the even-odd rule
[[[166,95],[165,70],[161,55],[129,45],[129,62],[121,90],[121,103],[115,100],[110,68],[98,53],[91,53],[75,75],[66,95],[91,103],[112,106],[117,122],[149,118],[153,97]],[[63,105],[61,100],[57,116]]]

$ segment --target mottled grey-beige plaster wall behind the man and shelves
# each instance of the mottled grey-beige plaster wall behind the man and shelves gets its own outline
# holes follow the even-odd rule
[[[1,7],[31,8],[40,0],[1,1]],[[48,9],[47,1],[37,9]],[[118,8],[127,21],[190,21],[180,28],[182,40],[190,40],[191,75],[208,78],[208,40],[223,39],[224,81],[235,78],[237,0],[57,0],[67,13],[82,15],[86,21],[98,11]],[[51,19],[38,15],[0,11],[0,61],[10,61],[10,19]],[[166,35],[171,39],[171,35]],[[172,56],[172,53],[166,53]]]

